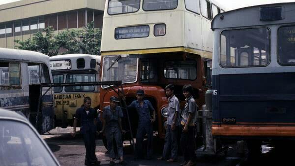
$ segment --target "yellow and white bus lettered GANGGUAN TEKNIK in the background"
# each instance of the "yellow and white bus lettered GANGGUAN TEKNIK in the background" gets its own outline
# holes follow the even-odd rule
[[[97,82],[100,80],[100,59],[100,55],[88,54],[50,57],[53,82]],[[55,126],[72,126],[75,112],[86,96],[91,97],[92,107],[99,108],[99,89],[99,86],[54,87]]]

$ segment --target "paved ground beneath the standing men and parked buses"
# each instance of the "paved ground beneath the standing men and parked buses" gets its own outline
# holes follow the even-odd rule
[[[51,134],[42,135],[50,149],[62,166],[84,166],[85,147],[81,135],[73,138],[69,133],[72,128],[57,128],[50,131]],[[199,156],[196,166],[294,166],[294,147],[289,145],[273,150],[271,146],[263,145],[262,154],[256,160],[244,162],[245,157],[237,154],[235,146],[230,147],[227,156]],[[159,141],[154,143],[154,156],[152,160],[134,160],[133,150],[128,142],[124,142],[124,157],[128,166],[179,166],[180,162],[167,163],[158,161],[163,145]],[[108,166],[109,158],[102,140],[96,140],[96,156],[102,166]],[[182,157],[179,157],[181,160]],[[116,161],[118,163],[118,160]],[[117,164],[118,165],[118,164]],[[119,166],[119,165],[118,165]]]

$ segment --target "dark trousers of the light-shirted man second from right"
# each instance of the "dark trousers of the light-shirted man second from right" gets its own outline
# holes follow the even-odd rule
[[[173,159],[177,160],[177,133],[178,126],[175,127],[174,130],[171,130],[171,126],[167,125],[166,134],[165,134],[165,144],[163,148],[163,159]]]

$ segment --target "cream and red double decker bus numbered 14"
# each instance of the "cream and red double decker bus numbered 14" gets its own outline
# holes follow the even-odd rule
[[[126,103],[145,91],[157,112],[154,130],[165,136],[167,97],[164,87],[175,85],[184,105],[184,84],[194,88],[199,106],[211,84],[212,17],[222,12],[208,0],[107,0],[102,31],[102,81],[122,80]],[[115,92],[101,89],[101,108]],[[136,113],[129,113],[132,127]]]

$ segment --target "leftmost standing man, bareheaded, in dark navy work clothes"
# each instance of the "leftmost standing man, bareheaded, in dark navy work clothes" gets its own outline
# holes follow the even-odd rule
[[[86,166],[100,165],[100,161],[97,161],[95,155],[95,135],[96,135],[96,118],[97,111],[91,108],[91,98],[85,97],[83,99],[83,106],[77,109],[74,118],[74,131],[71,133],[73,137],[76,135],[77,121],[80,120],[81,128],[80,132],[83,134],[86,155],[85,162]]]

